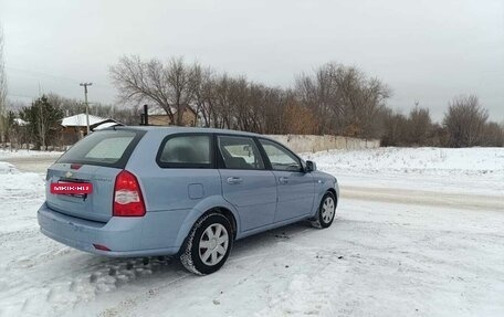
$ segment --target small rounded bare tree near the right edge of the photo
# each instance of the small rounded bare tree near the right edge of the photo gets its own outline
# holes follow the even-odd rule
[[[473,147],[481,145],[487,118],[487,110],[480,105],[475,95],[453,98],[443,119],[449,136],[449,146]]]

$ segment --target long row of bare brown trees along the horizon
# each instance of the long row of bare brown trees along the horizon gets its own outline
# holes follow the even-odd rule
[[[200,118],[196,124],[202,127],[339,135],[381,139],[382,146],[504,146],[504,124],[489,120],[477,96],[447,101],[444,117],[435,123],[428,107],[417,106],[408,115],[392,110],[387,105],[391,96],[387,84],[358,67],[338,63],[303,73],[287,88],[218,73],[199,63],[186,63],[182,57],[161,62],[124,56],[111,66],[109,73],[124,106],[93,105],[91,114],[127,125],[139,123],[143,104],[164,109],[175,125],[182,124],[183,109],[190,106]],[[56,94],[43,97],[43,104],[59,114],[56,117],[85,109],[76,99]],[[35,117],[30,117],[30,108],[40,107],[41,102],[39,98],[31,106],[18,107],[19,116],[36,121],[36,112],[31,112]],[[10,114],[13,125],[17,115]],[[36,129],[33,125],[32,134],[39,134]]]

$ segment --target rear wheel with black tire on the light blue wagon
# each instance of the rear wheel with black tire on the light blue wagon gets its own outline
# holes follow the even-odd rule
[[[189,232],[180,262],[195,274],[211,274],[222,267],[232,245],[229,220],[220,213],[209,213],[200,218]]]

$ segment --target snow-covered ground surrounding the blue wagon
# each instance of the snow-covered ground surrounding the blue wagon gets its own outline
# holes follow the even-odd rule
[[[51,159],[0,161],[0,316],[504,316],[504,149],[304,157],[338,177],[333,226],[238,241],[203,277],[46,239],[35,212]]]

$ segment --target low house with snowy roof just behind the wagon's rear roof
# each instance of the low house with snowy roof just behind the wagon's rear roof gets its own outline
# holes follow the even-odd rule
[[[73,145],[87,134],[86,114],[63,118],[61,125],[63,127],[61,136],[63,145]],[[123,124],[111,118],[90,115],[91,131],[116,125],[122,126]]]

